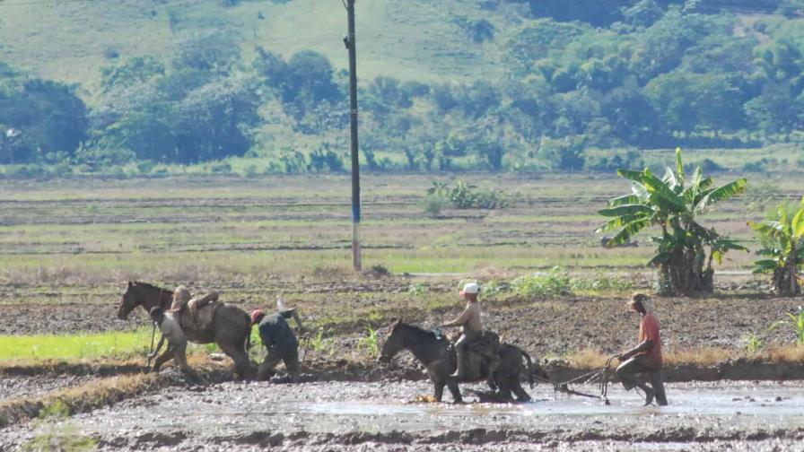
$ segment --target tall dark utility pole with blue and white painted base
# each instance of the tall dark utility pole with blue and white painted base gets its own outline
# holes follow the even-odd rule
[[[354,37],[354,0],[345,0],[349,34],[344,44],[349,49],[349,119],[352,128],[352,264],[361,271],[360,250],[360,158],[357,153],[357,48]]]

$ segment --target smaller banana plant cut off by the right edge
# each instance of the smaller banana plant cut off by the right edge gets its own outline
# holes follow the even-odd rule
[[[754,262],[754,273],[773,274],[773,290],[779,295],[799,295],[799,265],[804,261],[804,197],[795,211],[779,204],[774,217],[766,222],[748,222],[765,246],[757,251],[765,259]]]

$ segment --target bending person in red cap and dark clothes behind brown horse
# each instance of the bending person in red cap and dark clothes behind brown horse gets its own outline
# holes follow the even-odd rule
[[[293,317],[299,332],[303,331],[301,318],[296,309],[280,309],[267,316],[257,309],[251,313],[251,325],[259,324],[259,338],[267,349],[265,360],[259,365],[257,378],[267,380],[274,374],[274,368],[279,361],[284,361],[284,367],[293,383],[299,382],[299,341],[293,334],[293,329],[285,319]]]

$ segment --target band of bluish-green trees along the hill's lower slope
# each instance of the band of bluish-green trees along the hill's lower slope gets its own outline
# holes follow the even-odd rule
[[[525,4],[528,16],[504,42],[488,42],[490,24],[461,25],[502,48],[502,79],[363,81],[369,170],[640,168],[637,148],[801,139],[802,19],[746,22],[706,0],[629,0],[605,14],[607,2]],[[92,106],[88,87],[0,64],[0,164],[93,170],[247,155],[266,158],[269,171],[343,170],[345,72],[312,50],[281,57],[258,48],[247,58],[238,49],[236,37],[213,33],[181,42],[169,61],[110,58]]]

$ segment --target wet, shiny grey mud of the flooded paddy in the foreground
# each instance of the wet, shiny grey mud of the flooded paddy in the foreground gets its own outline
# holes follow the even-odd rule
[[[796,450],[804,440],[801,382],[670,384],[667,407],[642,407],[619,387],[611,405],[545,386],[529,404],[412,402],[429,394],[411,381],[174,387],[66,424],[109,450]],[[0,449],[21,448],[42,428],[2,430]]]

